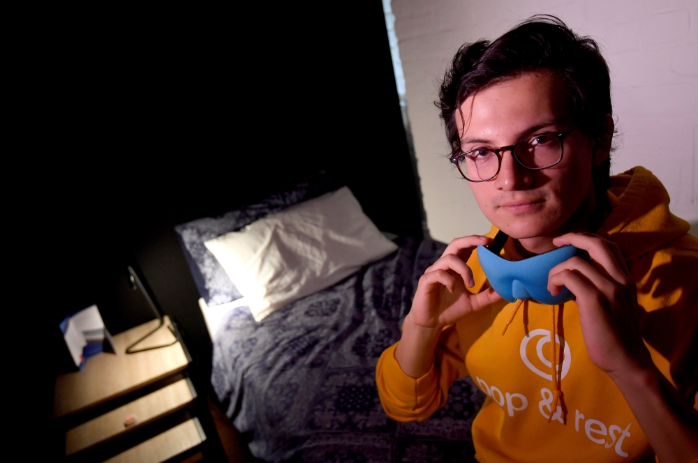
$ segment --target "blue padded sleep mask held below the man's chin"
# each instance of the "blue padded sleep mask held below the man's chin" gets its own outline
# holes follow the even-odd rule
[[[491,245],[477,246],[477,257],[482,270],[497,294],[509,302],[533,299],[549,305],[561,304],[574,298],[574,294],[564,286],[558,296],[550,294],[548,273],[551,268],[570,257],[579,256],[588,260],[586,251],[567,245],[528,259],[508,261],[499,256],[499,251],[508,238],[507,234],[500,231]]]

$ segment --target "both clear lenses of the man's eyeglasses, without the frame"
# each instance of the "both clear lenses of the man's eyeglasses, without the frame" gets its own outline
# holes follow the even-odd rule
[[[553,134],[536,135],[514,146],[514,155],[519,163],[529,169],[554,165],[560,160],[562,152],[562,142]],[[458,158],[463,176],[475,181],[496,176],[500,162],[500,157],[491,149],[478,149]]]

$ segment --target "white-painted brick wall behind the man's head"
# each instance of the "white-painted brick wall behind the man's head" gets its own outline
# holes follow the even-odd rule
[[[657,175],[671,211],[698,224],[698,0],[392,0],[407,101],[431,236],[482,233],[467,182],[450,167],[437,86],[458,48],[494,39],[549,13],[602,45],[620,131],[613,172],[635,165]]]

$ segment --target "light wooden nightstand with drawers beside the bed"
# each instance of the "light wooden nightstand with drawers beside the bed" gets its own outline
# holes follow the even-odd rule
[[[115,335],[117,354],[90,357],[82,371],[57,377],[53,416],[64,437],[66,461],[215,460],[209,455],[218,452],[209,451],[201,424],[211,422],[206,397],[198,396],[188,376],[191,357],[170,319],[165,317],[165,324],[138,348],[177,342],[125,354],[128,345],[158,323],[155,319]]]

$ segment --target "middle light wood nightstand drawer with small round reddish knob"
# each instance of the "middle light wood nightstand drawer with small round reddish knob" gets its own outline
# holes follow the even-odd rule
[[[72,455],[97,443],[119,437],[121,434],[185,407],[195,398],[196,392],[191,381],[188,378],[180,379],[68,430],[66,433],[66,455]],[[133,425],[126,427],[124,419],[128,415],[135,415],[138,420]]]

